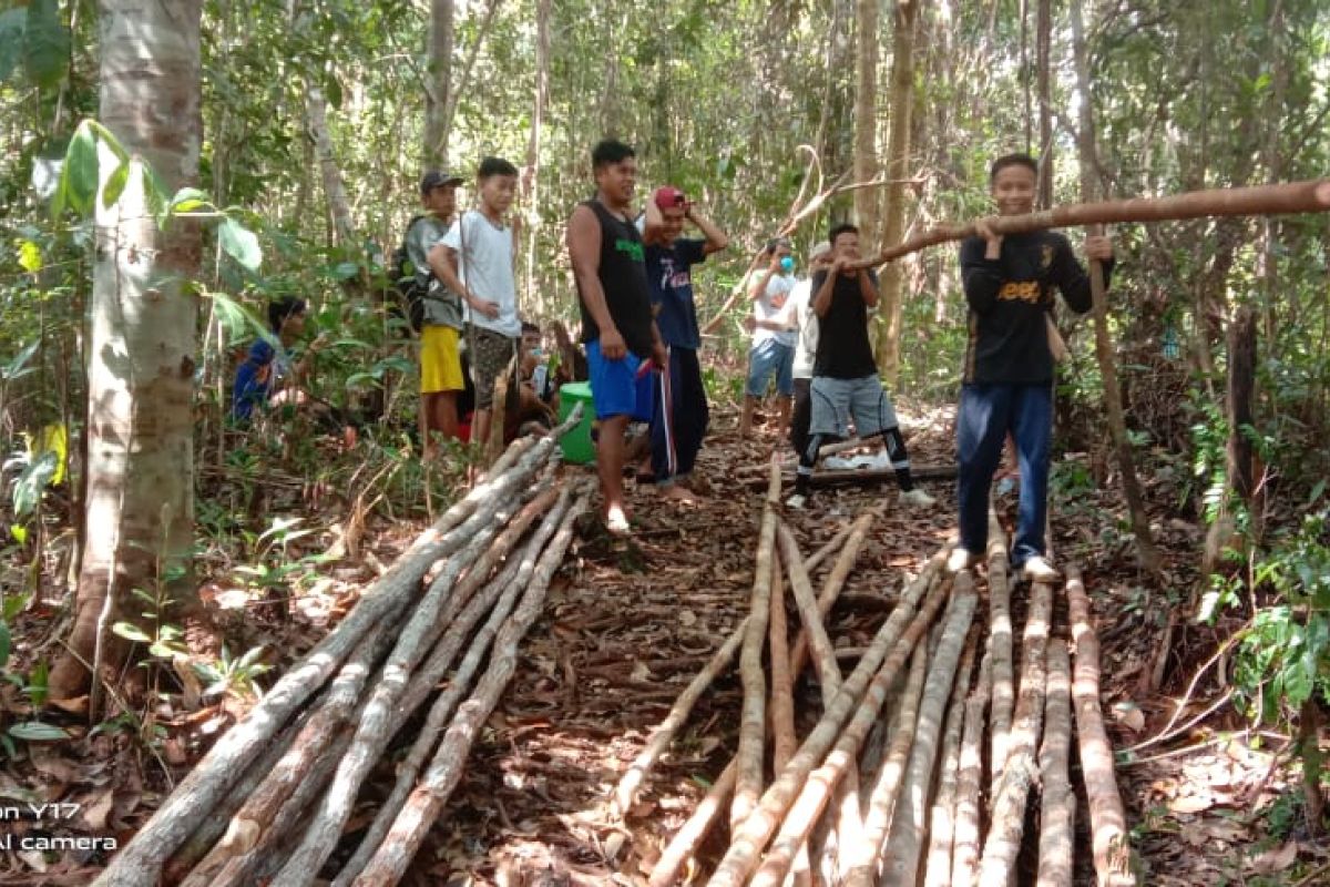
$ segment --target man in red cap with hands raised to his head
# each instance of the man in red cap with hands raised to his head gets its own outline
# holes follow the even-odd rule
[[[652,475],[666,499],[694,497],[685,484],[702,448],[710,414],[697,351],[702,335],[693,302],[694,265],[724,250],[729,238],[688,202],[684,191],[656,189],[642,215],[646,245],[646,281],[652,289],[656,327],[668,348],[666,370],[658,374],[652,410]],[[684,222],[697,226],[705,239],[680,237]]]

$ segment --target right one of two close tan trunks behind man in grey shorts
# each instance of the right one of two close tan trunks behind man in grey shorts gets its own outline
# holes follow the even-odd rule
[[[895,4],[895,35],[891,60],[891,125],[887,136],[887,188],[883,191],[884,243],[896,243],[904,231],[904,178],[910,162],[910,105],[914,98],[914,43],[919,7],[927,0],[899,0]],[[882,271],[878,314],[878,372],[894,386],[900,375],[900,282],[899,262]]]

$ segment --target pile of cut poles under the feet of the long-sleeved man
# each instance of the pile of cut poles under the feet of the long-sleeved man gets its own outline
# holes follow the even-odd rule
[[[1099,884],[1134,883],[1099,705],[1099,649],[1079,576],[1073,572],[1067,584],[1075,682],[1068,645],[1052,633],[1051,585],[1031,586],[1015,642],[1007,543],[996,519],[984,573],[987,606],[980,606],[983,589],[971,570],[946,574],[944,547],[904,584],[872,642],[857,650],[854,670],[843,674],[825,618],[875,513],[866,512],[805,560],[781,520],[779,469],[773,461],[749,616],[653,731],[612,798],[614,811],[628,815],[692,707],[739,652],[738,753],[654,860],[650,887],[678,883],[705,866],[696,859],[698,848],[722,821],[729,838],[709,887],[791,880],[1007,887],[1019,880],[1016,860],[1025,843],[1037,848],[1040,887],[1069,887],[1073,735]],[[815,593],[813,568],[838,547],[835,567]],[[790,604],[799,622],[793,645]],[[821,703],[802,713],[814,726],[801,739],[795,686],[809,661]],[[1039,834],[1027,835],[1027,810],[1036,805]]]

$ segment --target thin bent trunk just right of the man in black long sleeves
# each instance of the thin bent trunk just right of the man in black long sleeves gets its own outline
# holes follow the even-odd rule
[[[1076,85],[1080,90],[1080,178],[1081,201],[1095,199],[1095,170],[1099,162],[1095,150],[1095,114],[1091,108],[1089,65],[1085,55],[1084,25],[1081,21],[1081,0],[1071,3],[1072,40],[1076,57]],[[1091,233],[1103,233],[1103,226],[1095,225]],[[1104,408],[1108,412],[1108,427],[1113,435],[1113,448],[1117,451],[1117,464],[1123,472],[1123,495],[1132,517],[1132,532],[1136,536],[1136,552],[1141,567],[1157,576],[1161,560],[1150,533],[1150,519],[1145,513],[1141,485],[1136,477],[1136,460],[1132,443],[1127,438],[1127,419],[1123,415],[1123,390],[1117,383],[1117,363],[1113,356],[1113,339],[1108,328],[1108,305],[1104,295],[1104,267],[1091,261],[1091,291],[1095,314],[1095,352],[1099,358],[1100,378],[1104,383]]]

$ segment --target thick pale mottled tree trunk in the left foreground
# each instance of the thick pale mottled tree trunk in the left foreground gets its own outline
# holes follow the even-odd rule
[[[174,601],[161,618],[177,625],[198,614],[190,569],[198,303],[181,285],[198,273],[200,234],[188,219],[157,229],[142,164],[172,189],[198,180],[202,0],[102,0],[100,9],[98,116],[134,160],[120,199],[109,207],[100,194],[96,201],[86,532],[68,652],[51,674],[53,698],[88,689],[85,664],[102,676],[120,672],[129,650],[109,626],[142,621],[133,590]],[[114,165],[102,154],[105,188]]]

